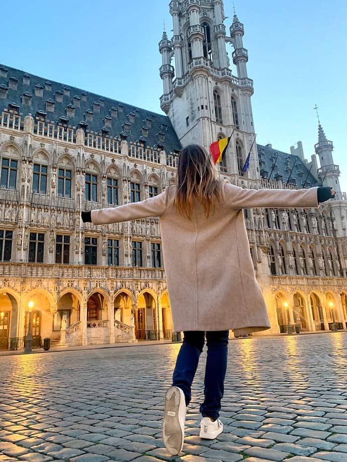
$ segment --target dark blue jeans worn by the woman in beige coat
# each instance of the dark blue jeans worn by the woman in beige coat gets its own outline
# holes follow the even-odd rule
[[[203,417],[216,420],[221,410],[224,380],[227,372],[229,331],[206,332],[207,360],[205,369],[205,400],[200,406]],[[191,384],[205,344],[205,332],[185,331],[173,371],[173,386],[179,387],[188,406],[191,400]]]

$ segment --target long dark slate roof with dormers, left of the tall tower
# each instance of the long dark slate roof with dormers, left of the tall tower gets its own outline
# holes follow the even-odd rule
[[[7,69],[7,76],[3,75],[6,73],[4,69]],[[23,77],[26,77],[26,79],[30,77],[29,85],[24,84]],[[9,80],[11,80],[12,86],[17,83],[17,90],[9,88]],[[0,87],[2,86],[8,89],[8,96],[7,99],[0,98],[0,112],[4,108],[8,108],[8,104],[15,103],[20,106],[18,111],[24,116],[31,114],[35,117],[37,111],[42,111],[43,113],[47,113],[47,120],[58,123],[62,121],[61,117],[65,117],[68,120],[67,123],[69,126],[84,128],[89,132],[102,134],[103,130],[104,134],[114,136],[115,138],[118,138],[122,133],[124,137],[126,136],[128,142],[145,140],[146,146],[154,147],[159,144],[167,152],[179,151],[182,147],[169,117],[164,114],[157,114],[0,64]],[[38,94],[43,92],[43,97],[35,96],[35,89]],[[69,95],[66,95],[67,90],[69,90]],[[56,100],[56,93],[61,95],[61,103]],[[31,96],[31,106],[22,103],[22,96],[24,94]],[[86,97],[86,101],[83,101],[83,96]],[[46,110],[47,101],[55,103],[54,112]],[[77,107],[78,102],[80,107]],[[100,113],[94,110],[94,103],[96,103],[96,107],[99,108]],[[66,108],[69,108],[69,111],[73,111],[74,109],[74,117],[67,114]],[[112,111],[113,114],[111,113],[111,108],[117,109],[116,116],[115,111]],[[86,118],[86,111],[93,113],[93,121]],[[86,122],[88,127],[79,125],[81,121]],[[107,123],[109,124],[110,122],[111,127],[107,126]],[[127,125],[126,130],[124,129],[124,123],[130,123],[130,131],[127,131],[129,125]],[[142,130],[143,127],[148,127],[148,130]],[[162,133],[164,134],[164,138]]]

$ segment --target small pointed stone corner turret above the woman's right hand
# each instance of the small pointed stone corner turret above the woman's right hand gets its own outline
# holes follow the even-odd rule
[[[316,154],[319,157],[321,168],[318,169],[318,177],[323,181],[323,186],[330,186],[336,191],[336,198],[342,199],[340,187],[339,165],[334,164],[333,142],[327,140],[320,122],[318,122],[318,143],[315,145]]]

